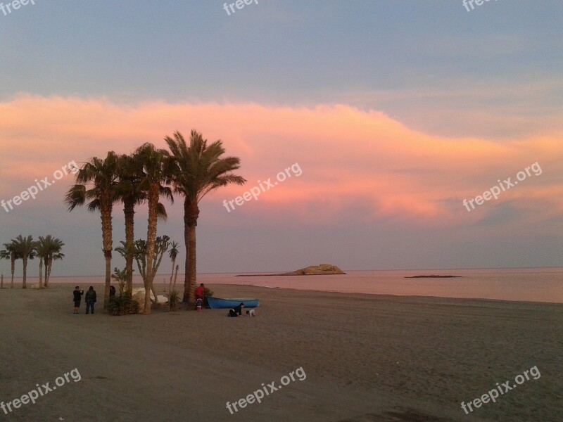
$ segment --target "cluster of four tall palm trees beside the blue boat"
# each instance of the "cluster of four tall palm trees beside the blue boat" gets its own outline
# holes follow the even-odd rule
[[[170,151],[144,143],[130,155],[118,155],[109,151],[106,158],[91,158],[75,175],[76,184],[65,196],[68,210],[87,204],[91,212],[101,215],[103,255],[106,260],[106,288],[104,311],[109,305],[111,281],[112,212],[116,203],[123,204],[125,215],[125,271],[127,291],[132,290],[134,259],[134,208],[148,205],[148,229],[146,234],[146,267],[153,268],[156,258],[158,219],[165,220],[166,210],[160,198],[173,202],[173,193],[184,199],[184,242],[186,262],[183,301],[195,302],[196,286],[196,226],[199,217],[199,201],[210,191],[227,184],[244,184],[243,177],[233,173],[239,169],[240,159],[224,157],[222,141],[208,143],[201,133],[191,131],[189,143],[175,132],[165,136]],[[177,254],[177,252],[176,252]],[[172,256],[171,256],[172,258]],[[175,255],[174,255],[175,260]],[[172,264],[172,268],[173,268]],[[151,313],[150,293],[155,274],[149,271],[144,277],[144,313]]]

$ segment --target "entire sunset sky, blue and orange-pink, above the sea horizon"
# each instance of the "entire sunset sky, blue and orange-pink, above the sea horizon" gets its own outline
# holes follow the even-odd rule
[[[560,1],[248,2],[4,2],[0,243],[51,234],[53,276],[103,274],[69,163],[196,129],[247,180],[201,201],[199,272],[562,267]]]

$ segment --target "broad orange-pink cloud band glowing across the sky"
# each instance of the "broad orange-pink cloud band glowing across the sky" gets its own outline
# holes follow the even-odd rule
[[[241,158],[239,174],[248,183],[210,194],[206,200],[217,207],[257,186],[258,180],[274,181],[278,172],[298,162],[301,176],[293,174],[261,193],[258,201],[236,207],[235,212],[258,219],[275,215],[334,222],[349,217],[350,207],[359,207],[356,217],[366,221],[391,217],[415,224],[457,224],[460,219],[476,221],[507,200],[536,219],[563,210],[560,133],[513,141],[450,139],[415,132],[377,111],[341,105],[130,105],[106,98],[27,94],[0,103],[0,198],[18,195],[70,160],[101,157],[109,150],[129,153],[147,141],[164,147],[165,135],[179,130],[187,137],[191,129],[210,141],[222,139],[227,155]],[[514,181],[517,172],[534,162],[543,170],[540,176],[532,174],[470,213],[462,207],[464,198],[481,195],[498,179]],[[71,177],[65,180],[72,183]],[[536,209],[535,203],[542,205]]]

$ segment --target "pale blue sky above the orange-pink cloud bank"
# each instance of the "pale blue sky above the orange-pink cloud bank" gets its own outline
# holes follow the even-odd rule
[[[468,13],[461,1],[262,0],[230,16],[222,5],[39,0],[0,14],[0,98],[337,102],[455,135],[469,122],[422,122],[417,108],[554,117],[562,107],[559,1]]]

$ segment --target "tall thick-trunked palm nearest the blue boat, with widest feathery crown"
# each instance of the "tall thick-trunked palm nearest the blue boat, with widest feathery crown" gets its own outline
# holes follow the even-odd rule
[[[186,244],[186,270],[184,276],[184,302],[195,303],[196,288],[196,226],[199,217],[199,201],[220,186],[245,184],[246,179],[232,172],[240,168],[240,158],[222,157],[222,141],[208,145],[200,133],[191,131],[189,146],[184,136],[175,132],[174,138],[165,137],[174,157],[172,186],[175,193],[184,196],[184,243]]]

